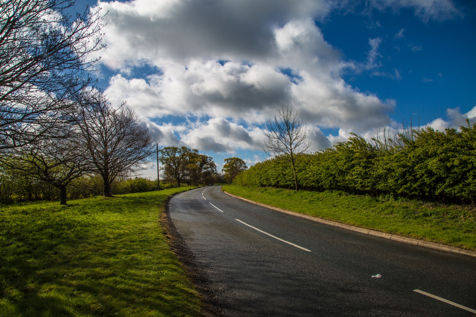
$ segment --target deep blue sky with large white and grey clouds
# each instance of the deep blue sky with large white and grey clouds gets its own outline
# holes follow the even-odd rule
[[[109,11],[100,84],[160,144],[248,164],[285,105],[312,151],[402,120],[476,116],[476,5],[452,0],[78,0]],[[145,173],[153,177],[155,165]]]

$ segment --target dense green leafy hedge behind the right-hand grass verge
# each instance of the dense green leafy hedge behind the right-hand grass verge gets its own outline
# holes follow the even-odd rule
[[[297,160],[301,188],[476,202],[476,124],[461,130],[404,129],[393,139],[346,142]],[[237,176],[240,185],[293,187],[290,165],[273,158]]]

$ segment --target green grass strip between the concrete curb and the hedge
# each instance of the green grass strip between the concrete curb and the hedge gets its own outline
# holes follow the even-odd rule
[[[476,250],[474,206],[386,201],[343,192],[308,192],[272,187],[222,187],[234,195],[278,208],[357,227]]]

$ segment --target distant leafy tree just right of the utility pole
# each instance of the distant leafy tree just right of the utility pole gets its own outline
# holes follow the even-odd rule
[[[190,157],[198,155],[198,150],[187,146],[166,146],[159,151],[159,161],[167,178],[177,182],[178,187],[190,174]]]

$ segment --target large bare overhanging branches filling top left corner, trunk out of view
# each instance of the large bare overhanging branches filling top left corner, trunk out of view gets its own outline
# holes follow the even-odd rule
[[[100,9],[71,17],[68,0],[0,0],[0,150],[63,135],[71,97],[103,48]]]

